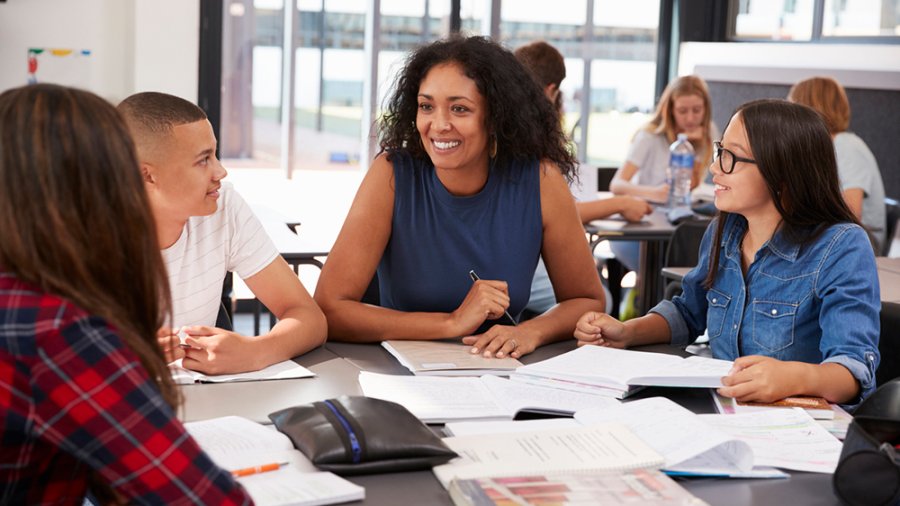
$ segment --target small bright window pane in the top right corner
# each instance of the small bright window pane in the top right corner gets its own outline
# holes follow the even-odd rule
[[[825,0],[822,35],[900,36],[900,0]]]

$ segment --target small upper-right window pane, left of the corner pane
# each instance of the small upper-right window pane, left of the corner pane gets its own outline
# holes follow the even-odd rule
[[[753,0],[738,6],[738,39],[810,40],[814,0]]]

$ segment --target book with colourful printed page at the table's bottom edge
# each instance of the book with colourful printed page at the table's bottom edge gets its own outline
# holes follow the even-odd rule
[[[456,506],[703,506],[706,503],[655,469],[591,475],[535,475],[450,482]]]

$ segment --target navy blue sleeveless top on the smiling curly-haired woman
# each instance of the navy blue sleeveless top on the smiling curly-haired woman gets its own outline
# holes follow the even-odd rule
[[[538,161],[491,170],[484,188],[466,197],[451,195],[429,160],[395,151],[391,161],[394,216],[377,271],[381,305],[452,312],[469,293],[474,270],[481,279],[507,282],[509,313],[518,320],[543,241]]]

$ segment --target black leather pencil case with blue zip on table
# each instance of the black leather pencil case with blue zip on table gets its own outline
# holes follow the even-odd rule
[[[406,408],[381,399],[345,395],[269,419],[316,467],[341,475],[429,469],[458,456]]]

